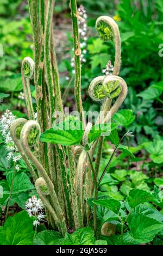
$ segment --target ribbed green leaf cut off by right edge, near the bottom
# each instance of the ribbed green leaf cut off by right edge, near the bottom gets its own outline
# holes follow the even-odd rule
[[[150,203],[143,203],[137,205],[133,211],[135,214],[144,214],[150,218],[154,218],[156,221],[163,222],[163,214],[156,210]]]

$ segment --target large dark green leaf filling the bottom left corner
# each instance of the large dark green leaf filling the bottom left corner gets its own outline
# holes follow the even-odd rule
[[[9,217],[0,229],[0,245],[32,245],[33,220],[26,211]]]

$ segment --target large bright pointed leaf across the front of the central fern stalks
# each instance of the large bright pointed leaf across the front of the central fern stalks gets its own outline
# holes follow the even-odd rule
[[[81,142],[83,133],[82,122],[76,119],[65,120],[41,133],[40,141],[64,146],[77,145]]]

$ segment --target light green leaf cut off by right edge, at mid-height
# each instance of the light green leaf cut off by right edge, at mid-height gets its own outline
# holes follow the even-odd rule
[[[163,140],[143,144],[154,163],[163,163]]]

